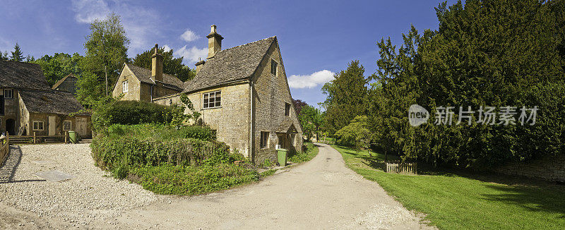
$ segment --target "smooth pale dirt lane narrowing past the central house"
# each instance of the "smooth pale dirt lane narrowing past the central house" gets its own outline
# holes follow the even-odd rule
[[[119,229],[433,229],[378,183],[347,169],[328,145],[310,162],[260,183],[158,202],[111,223]]]

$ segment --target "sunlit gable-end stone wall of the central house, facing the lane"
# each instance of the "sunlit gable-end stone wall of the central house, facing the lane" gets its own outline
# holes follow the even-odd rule
[[[271,59],[277,65],[277,75],[270,73]],[[297,129],[294,140],[290,140],[290,145],[302,147],[302,129],[300,128],[295,108],[292,105],[290,90],[287,83],[287,76],[283,61],[280,56],[278,45],[273,44],[269,48],[266,57],[256,72],[254,83],[254,162],[261,164],[266,159],[275,161],[277,153],[275,145],[278,144],[277,131],[282,123],[292,122]],[[285,116],[285,103],[291,104],[290,116]],[[261,132],[269,132],[266,147],[261,148]],[[291,151],[300,151],[294,150]]]

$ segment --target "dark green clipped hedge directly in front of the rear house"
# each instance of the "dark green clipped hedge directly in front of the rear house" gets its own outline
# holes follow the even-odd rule
[[[102,131],[112,124],[167,123],[172,108],[140,101],[117,101],[100,106],[93,114],[93,128]]]

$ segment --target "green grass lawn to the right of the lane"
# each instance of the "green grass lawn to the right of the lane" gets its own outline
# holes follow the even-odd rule
[[[420,170],[387,174],[384,156],[332,145],[347,167],[379,183],[439,229],[565,229],[565,186],[513,176]]]

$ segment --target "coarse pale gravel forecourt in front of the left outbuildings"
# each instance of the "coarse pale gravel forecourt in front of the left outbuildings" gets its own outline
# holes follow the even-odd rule
[[[59,170],[76,176],[49,182],[34,174]],[[119,181],[94,166],[88,145],[13,147],[0,169],[0,202],[39,217],[54,217],[71,226],[117,217],[149,205],[157,195],[129,181]]]

